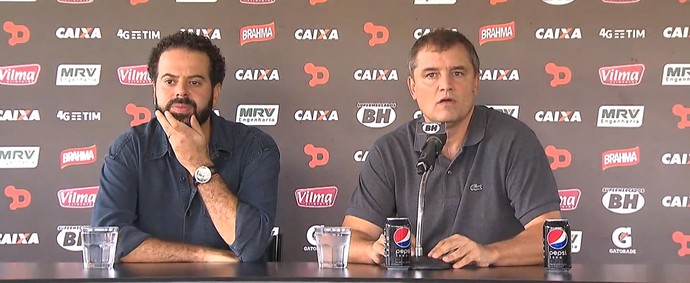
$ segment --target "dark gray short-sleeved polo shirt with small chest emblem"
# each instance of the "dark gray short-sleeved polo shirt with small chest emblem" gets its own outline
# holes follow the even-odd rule
[[[383,227],[386,217],[408,217],[413,233],[421,175],[416,167],[424,141],[417,122],[379,138],[369,151],[346,214]],[[416,146],[415,146],[416,145]],[[439,156],[429,175],[422,247],[461,234],[480,244],[510,239],[535,217],[560,209],[556,180],[544,148],[521,121],[475,106],[462,151]]]

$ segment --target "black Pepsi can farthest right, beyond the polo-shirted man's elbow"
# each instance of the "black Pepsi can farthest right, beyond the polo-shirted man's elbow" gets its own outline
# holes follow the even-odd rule
[[[568,270],[572,267],[570,239],[568,219],[544,221],[544,268]]]

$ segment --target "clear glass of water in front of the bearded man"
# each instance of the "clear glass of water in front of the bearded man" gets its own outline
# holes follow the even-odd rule
[[[118,227],[82,227],[84,268],[113,268],[118,230]]]

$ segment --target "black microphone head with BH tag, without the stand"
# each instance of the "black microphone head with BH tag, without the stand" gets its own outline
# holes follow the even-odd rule
[[[417,161],[417,174],[433,170],[436,159],[446,144],[446,123],[419,122],[417,123],[417,135],[424,135],[426,142],[422,146],[422,152]]]

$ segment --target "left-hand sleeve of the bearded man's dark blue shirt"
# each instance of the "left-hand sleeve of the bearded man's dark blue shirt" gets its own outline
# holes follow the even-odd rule
[[[101,169],[92,226],[120,229],[115,257],[126,256],[150,235],[134,226],[137,220],[138,171],[131,133],[120,136],[110,147]]]

